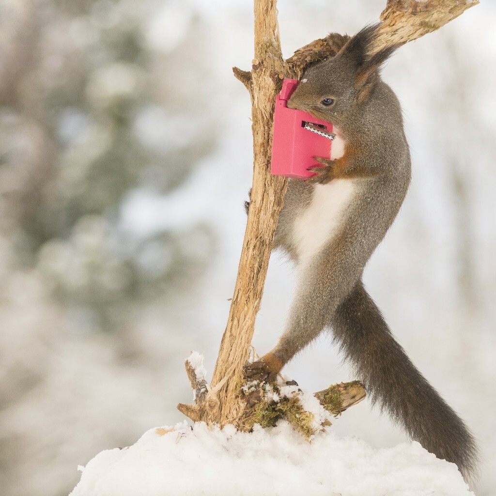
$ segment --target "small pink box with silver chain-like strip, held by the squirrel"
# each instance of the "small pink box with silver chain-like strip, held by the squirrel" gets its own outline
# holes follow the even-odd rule
[[[332,124],[307,112],[288,109],[288,100],[298,83],[296,79],[285,79],[276,98],[270,171],[275,176],[308,179],[315,173],[307,169],[322,165],[313,157],[330,158],[334,134]]]

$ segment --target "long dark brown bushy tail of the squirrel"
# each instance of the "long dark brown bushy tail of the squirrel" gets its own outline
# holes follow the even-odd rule
[[[472,479],[478,458],[473,435],[395,341],[362,281],[338,308],[332,326],[372,403],[428,451],[455,463],[466,481]]]

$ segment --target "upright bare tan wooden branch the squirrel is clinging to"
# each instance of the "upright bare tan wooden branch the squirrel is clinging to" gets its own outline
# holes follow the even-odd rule
[[[236,398],[239,396],[243,367],[248,362],[255,317],[260,308],[275,228],[287,185],[286,178],[270,174],[274,101],[281,84],[278,75],[283,71],[276,1],[255,0],[254,7],[255,59],[250,84],[246,73],[242,78],[252,102],[253,185],[238,278],[212,378],[212,387],[215,388],[232,369],[225,384],[217,390],[218,411],[213,414],[221,426],[236,422],[244,410],[244,405]]]

